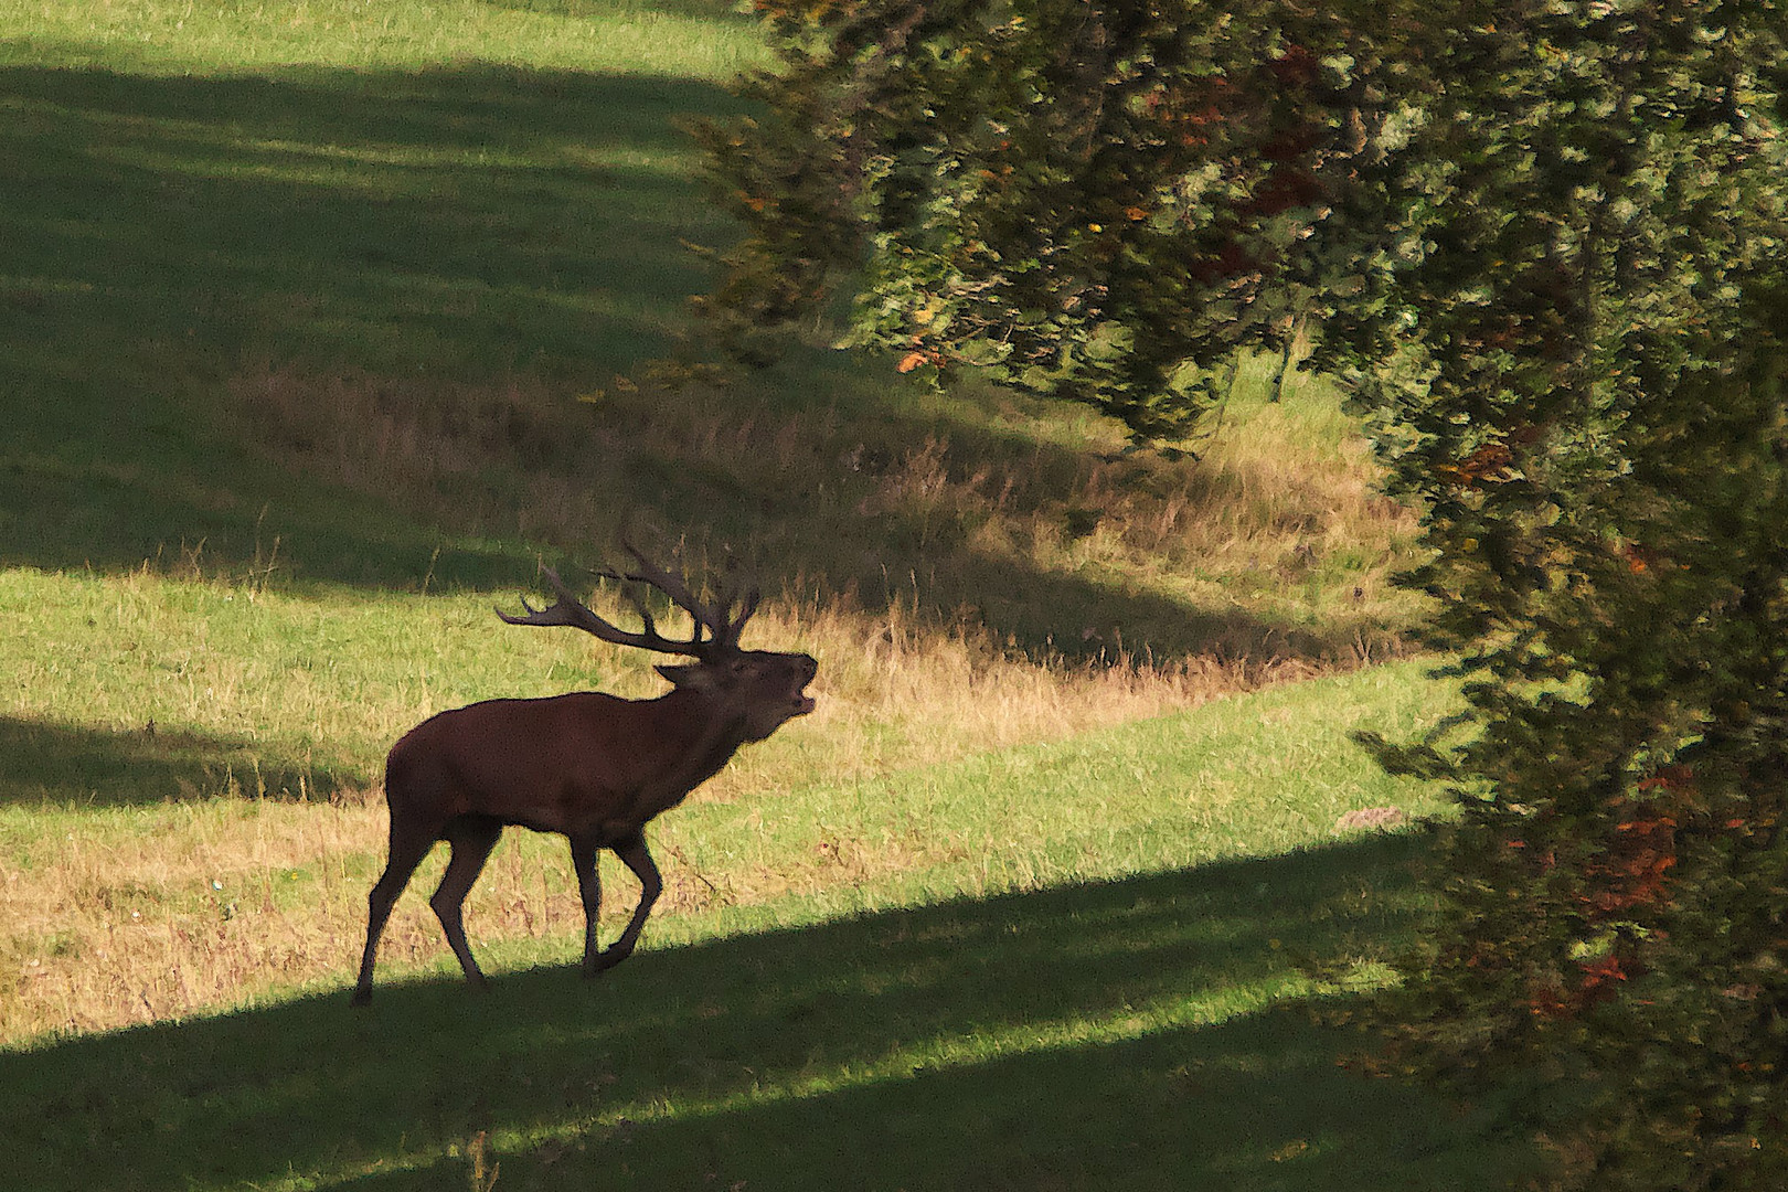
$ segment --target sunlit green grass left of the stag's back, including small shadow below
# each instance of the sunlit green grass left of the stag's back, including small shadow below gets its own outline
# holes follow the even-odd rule
[[[152,575],[0,572],[23,634],[0,802],[156,804],[365,788],[420,709],[601,686],[563,640],[501,631],[488,597],[393,602]],[[606,677],[608,683],[613,676]],[[252,774],[259,774],[259,790]]]

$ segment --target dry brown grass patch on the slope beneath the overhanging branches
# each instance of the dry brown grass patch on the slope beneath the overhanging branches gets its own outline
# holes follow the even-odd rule
[[[470,533],[588,558],[644,513],[796,575],[794,593],[907,602],[1033,658],[1391,656],[1416,615],[1387,583],[1414,520],[1334,395],[1303,386],[1239,402],[1200,459],[1123,454],[1110,424],[994,395],[842,416],[688,375],[572,400],[281,370],[236,395],[277,459]]]

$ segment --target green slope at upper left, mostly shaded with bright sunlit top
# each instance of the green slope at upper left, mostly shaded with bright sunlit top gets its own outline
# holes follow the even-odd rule
[[[760,54],[722,4],[0,5],[0,559],[526,574],[268,468],[240,382],[665,352],[721,234],[674,122]]]

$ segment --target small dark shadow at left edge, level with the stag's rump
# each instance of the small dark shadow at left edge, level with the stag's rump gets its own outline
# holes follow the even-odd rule
[[[308,799],[358,776],[268,758],[249,740],[0,717],[0,806],[138,806],[215,795]]]

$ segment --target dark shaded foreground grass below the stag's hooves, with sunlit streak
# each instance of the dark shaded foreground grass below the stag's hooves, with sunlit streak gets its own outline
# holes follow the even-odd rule
[[[1287,956],[1411,926],[1418,847],[48,1042],[0,1054],[13,1187],[442,1188],[468,1147],[513,1188],[1500,1187],[1527,1147],[1341,1072],[1357,1040],[1273,1003]]]

